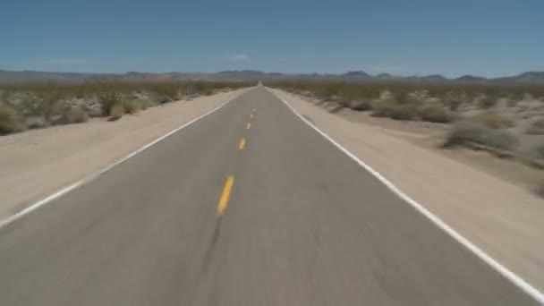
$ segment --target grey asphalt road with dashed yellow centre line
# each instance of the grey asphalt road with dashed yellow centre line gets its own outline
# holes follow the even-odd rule
[[[3,306],[532,304],[260,88],[0,229]]]

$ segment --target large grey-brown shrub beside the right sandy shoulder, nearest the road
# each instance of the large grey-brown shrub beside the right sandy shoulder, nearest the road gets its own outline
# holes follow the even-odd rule
[[[519,140],[505,130],[492,129],[480,123],[463,121],[455,123],[447,134],[444,146],[446,148],[463,146],[463,144],[470,142],[504,150],[514,150],[519,144]]]

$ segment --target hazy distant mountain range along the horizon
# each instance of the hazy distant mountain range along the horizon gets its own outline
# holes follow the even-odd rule
[[[531,84],[544,85],[544,72],[524,72],[522,74],[503,78],[483,78],[464,75],[448,79],[439,74],[426,76],[395,76],[389,73],[370,75],[367,72],[353,71],[343,74],[332,73],[302,73],[285,74],[280,72],[260,72],[254,70],[224,71],[217,73],[200,72],[127,72],[127,73],[78,73],[78,72],[34,72],[34,71],[3,71],[0,70],[0,84],[15,84],[33,81],[273,81],[273,80],[338,80],[338,81],[407,81],[407,82],[455,82],[481,84]]]

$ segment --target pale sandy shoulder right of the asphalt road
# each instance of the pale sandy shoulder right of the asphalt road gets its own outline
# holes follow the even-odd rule
[[[354,123],[285,91],[272,90],[412,199],[531,285],[544,289],[544,200],[398,137],[383,125]]]

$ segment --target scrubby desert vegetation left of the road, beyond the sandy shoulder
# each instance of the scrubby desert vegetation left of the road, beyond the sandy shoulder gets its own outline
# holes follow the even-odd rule
[[[84,123],[90,117],[115,121],[150,106],[238,89],[237,81],[88,81],[0,85],[0,134],[56,124]]]

